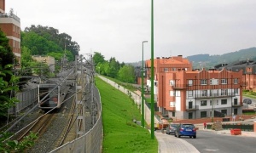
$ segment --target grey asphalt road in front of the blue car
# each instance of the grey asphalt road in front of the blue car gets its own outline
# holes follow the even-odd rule
[[[197,131],[196,139],[181,137],[181,139],[195,146],[201,153],[219,152],[219,153],[239,153],[256,152],[255,137],[232,136],[225,133],[213,133],[209,131]]]

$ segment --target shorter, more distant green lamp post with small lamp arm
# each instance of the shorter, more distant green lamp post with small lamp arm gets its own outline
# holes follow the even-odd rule
[[[143,50],[144,50],[144,42],[143,41]],[[143,51],[144,54],[144,51]],[[144,120],[144,59],[143,59],[143,71],[142,71],[142,126],[145,127],[145,120]]]

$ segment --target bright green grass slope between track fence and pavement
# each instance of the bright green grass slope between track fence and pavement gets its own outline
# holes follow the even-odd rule
[[[157,152],[158,142],[148,129],[132,122],[141,120],[132,99],[98,77],[96,87],[102,99],[103,152]]]

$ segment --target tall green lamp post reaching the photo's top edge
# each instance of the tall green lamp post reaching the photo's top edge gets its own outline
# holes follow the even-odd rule
[[[151,139],[154,139],[154,0],[151,0]]]

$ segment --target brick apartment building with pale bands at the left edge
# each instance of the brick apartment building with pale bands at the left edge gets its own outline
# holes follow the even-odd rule
[[[0,0],[0,29],[9,38],[9,46],[20,64],[20,18],[13,13],[13,10],[10,10],[9,14],[5,13],[5,0]]]

